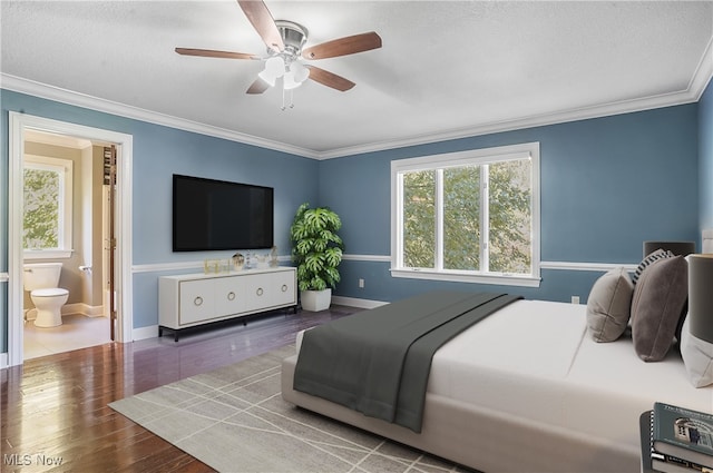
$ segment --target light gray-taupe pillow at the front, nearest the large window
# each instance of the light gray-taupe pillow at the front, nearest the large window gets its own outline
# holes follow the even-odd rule
[[[634,284],[623,267],[612,269],[592,286],[587,326],[595,342],[614,342],[626,331]]]

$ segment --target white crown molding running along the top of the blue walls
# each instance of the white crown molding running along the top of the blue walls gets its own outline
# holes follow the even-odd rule
[[[713,77],[713,38],[709,41],[705,52],[701,58],[688,87],[677,92],[663,93],[651,97],[643,97],[632,100],[623,100],[617,102],[597,105],[593,107],[573,108],[554,114],[535,115],[516,120],[505,120],[490,124],[481,124],[468,126],[460,129],[453,129],[439,134],[419,135],[397,140],[385,140],[370,142],[359,146],[335,148],[328,151],[318,151],[292,146],[285,142],[268,140],[252,135],[232,131],[225,128],[213,127],[196,121],[186,120],[178,117],[158,114],[137,107],[127,106],[97,97],[78,93],[71,90],[48,86],[45,83],[22,79],[16,76],[0,73],[0,87],[17,92],[29,93],[32,96],[56,100],[59,102],[74,105],[78,107],[90,108],[92,110],[104,111],[126,118],[133,118],[152,124],[164,125],[186,131],[193,131],[202,135],[223,138],[231,141],[243,142],[246,145],[258,146],[262,148],[273,149],[276,151],[289,152],[292,155],[312,158],[312,159],[332,159],[345,156],[362,155],[367,152],[383,151],[387,149],[404,148],[410,146],[426,145],[439,141],[448,141],[461,138],[470,138],[481,135],[490,135],[496,132],[512,131],[525,128],[543,127],[548,125],[557,125],[569,121],[587,120],[592,118],[609,117],[614,115],[632,114],[636,111],[653,110],[663,107],[673,107],[676,105],[692,104],[701,99],[711,78]]]

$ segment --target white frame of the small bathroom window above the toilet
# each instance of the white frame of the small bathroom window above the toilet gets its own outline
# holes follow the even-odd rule
[[[23,168],[43,169],[56,171],[59,175],[59,235],[57,248],[27,249],[23,248],[23,257],[27,259],[69,258],[72,254],[72,195],[74,195],[74,162],[71,159],[51,158],[49,156],[25,155]],[[25,183],[22,183],[25,188]]]

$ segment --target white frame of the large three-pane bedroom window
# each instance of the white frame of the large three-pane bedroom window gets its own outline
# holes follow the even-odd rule
[[[437,268],[411,268],[403,266],[403,173],[417,170],[437,170],[448,167],[465,167],[473,165],[486,165],[515,159],[527,159],[531,161],[531,263],[533,274],[508,274],[508,273],[482,273],[471,270],[455,270]],[[501,146],[477,150],[449,152],[443,155],[423,156],[391,161],[391,275],[393,277],[406,277],[414,279],[452,280],[465,283],[497,284],[509,286],[539,287],[540,284],[540,184],[539,184],[539,142],[527,142],[520,145]],[[481,193],[485,186],[481,185]],[[437,195],[442,189],[437,188]],[[487,199],[487,196],[486,196]],[[487,200],[484,200],[487,201]],[[440,204],[437,204],[439,206]],[[486,209],[487,211],[487,209]],[[442,218],[437,211],[437,219]],[[440,228],[437,225],[436,235],[437,253],[441,253]],[[487,228],[484,233],[487,233]],[[437,262],[439,256],[436,255]],[[442,260],[442,258],[441,258]]]

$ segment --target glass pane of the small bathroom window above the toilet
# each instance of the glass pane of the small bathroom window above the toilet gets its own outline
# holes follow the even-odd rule
[[[25,169],[23,245],[27,249],[59,247],[59,173]]]

